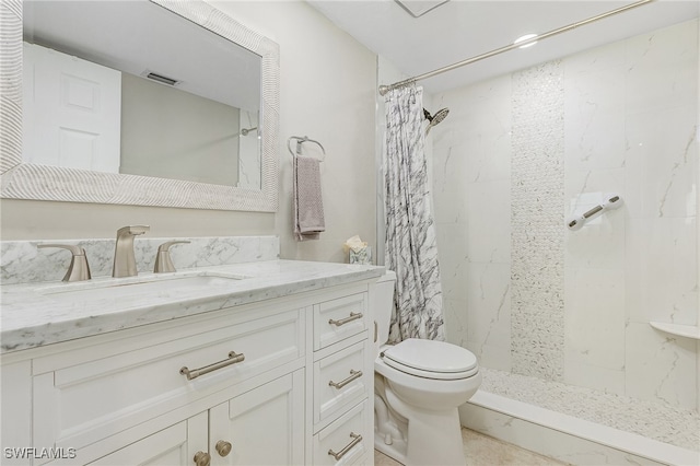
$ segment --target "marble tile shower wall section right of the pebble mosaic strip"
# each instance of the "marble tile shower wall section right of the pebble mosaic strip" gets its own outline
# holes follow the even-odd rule
[[[695,345],[649,321],[698,319],[698,21],[564,60],[564,382],[697,408]],[[588,199],[586,199],[588,197]]]

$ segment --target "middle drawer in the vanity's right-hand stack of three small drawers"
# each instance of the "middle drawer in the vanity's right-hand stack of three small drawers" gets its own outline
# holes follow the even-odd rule
[[[314,363],[314,426],[366,398],[373,381],[366,351],[363,340]]]

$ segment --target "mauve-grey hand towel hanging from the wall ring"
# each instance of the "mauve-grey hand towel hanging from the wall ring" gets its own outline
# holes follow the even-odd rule
[[[326,231],[320,196],[320,161],[294,158],[294,234],[296,240],[318,240]]]

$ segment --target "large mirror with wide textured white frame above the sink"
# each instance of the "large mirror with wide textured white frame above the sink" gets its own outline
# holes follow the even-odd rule
[[[200,1],[24,2],[24,16],[22,3],[10,1],[0,7],[5,10],[0,34],[3,47],[8,44],[0,78],[13,91],[5,100],[3,89],[0,109],[2,197],[277,210],[277,44]],[[78,4],[79,14],[69,11],[71,3]],[[130,21],[115,20],[125,9]],[[90,12],[95,13],[90,20],[73,24],[72,19]],[[108,21],[104,23],[104,19]],[[80,34],[66,36],[57,31],[67,24]],[[127,26],[127,37],[118,24]],[[148,30],[143,35],[137,34],[138,24]],[[85,30],[102,33],[102,38],[82,36]],[[98,47],[100,43],[106,46]],[[127,54],[131,48],[140,54]],[[18,70],[16,60],[5,60],[5,56],[18,55],[23,56],[24,73]],[[116,120],[117,136],[112,138],[116,142],[94,142],[90,137],[102,135],[102,129],[93,130],[92,126],[89,130],[66,130],[67,125],[52,123],[61,128],[58,135],[33,128],[40,125],[32,121],[60,114],[46,109],[47,101],[69,102],[81,110],[95,102],[101,108],[110,105],[109,92],[97,94],[85,84],[97,82],[97,78],[85,78],[72,68],[59,71],[56,83],[48,85],[49,90],[58,89],[58,96],[42,98],[50,94],[35,77],[50,75],[46,67],[54,70],[57,61],[67,67],[78,63],[81,72],[85,67],[90,67],[89,73],[104,72],[106,82],[109,75],[117,77],[117,84],[112,85],[117,96],[113,101],[121,107],[116,117],[115,112],[108,113]],[[154,77],[148,79],[149,73]],[[78,78],[71,81],[66,75]],[[168,78],[175,82],[162,82]],[[19,105],[21,94],[23,106]],[[24,147],[18,140],[23,113]],[[51,141],[48,135],[54,135],[52,142],[46,142]],[[106,145],[110,154],[91,158],[100,145]]]

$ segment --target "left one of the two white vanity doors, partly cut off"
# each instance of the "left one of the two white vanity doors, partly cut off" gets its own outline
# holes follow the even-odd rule
[[[200,412],[90,464],[191,466],[197,452],[207,452],[207,412]]]

